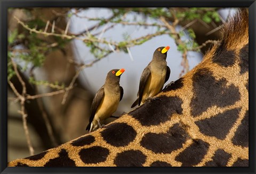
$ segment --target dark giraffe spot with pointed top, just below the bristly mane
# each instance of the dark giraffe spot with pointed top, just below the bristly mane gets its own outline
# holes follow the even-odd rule
[[[215,55],[212,58],[213,63],[217,63],[220,66],[229,67],[235,64],[235,51],[227,50],[225,43],[222,41],[221,45],[215,51]]]

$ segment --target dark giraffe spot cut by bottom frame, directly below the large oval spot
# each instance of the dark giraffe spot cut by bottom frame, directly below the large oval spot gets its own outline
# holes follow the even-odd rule
[[[129,150],[118,153],[114,164],[117,167],[142,167],[146,162],[146,155],[138,150]]]

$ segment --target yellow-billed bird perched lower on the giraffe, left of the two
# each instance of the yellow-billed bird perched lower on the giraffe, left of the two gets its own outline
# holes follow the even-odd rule
[[[112,69],[108,72],[105,84],[101,86],[92,101],[87,131],[92,132],[105,126],[101,125],[103,120],[109,118],[116,111],[124,94],[122,86],[119,85],[120,77],[124,71],[125,69],[122,68]]]

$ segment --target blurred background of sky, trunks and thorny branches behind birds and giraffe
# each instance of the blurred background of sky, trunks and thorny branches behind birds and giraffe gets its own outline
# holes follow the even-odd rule
[[[157,47],[170,46],[171,81],[218,43],[231,8],[10,8],[8,161],[87,134],[92,99],[125,68],[115,116],[131,111]],[[114,118],[106,120],[106,124]]]

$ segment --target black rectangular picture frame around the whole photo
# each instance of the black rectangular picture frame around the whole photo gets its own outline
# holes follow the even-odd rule
[[[7,8],[10,7],[248,7],[249,8],[249,167],[7,167]],[[1,7],[1,173],[255,173],[255,0],[91,0],[13,1],[0,0]]]

